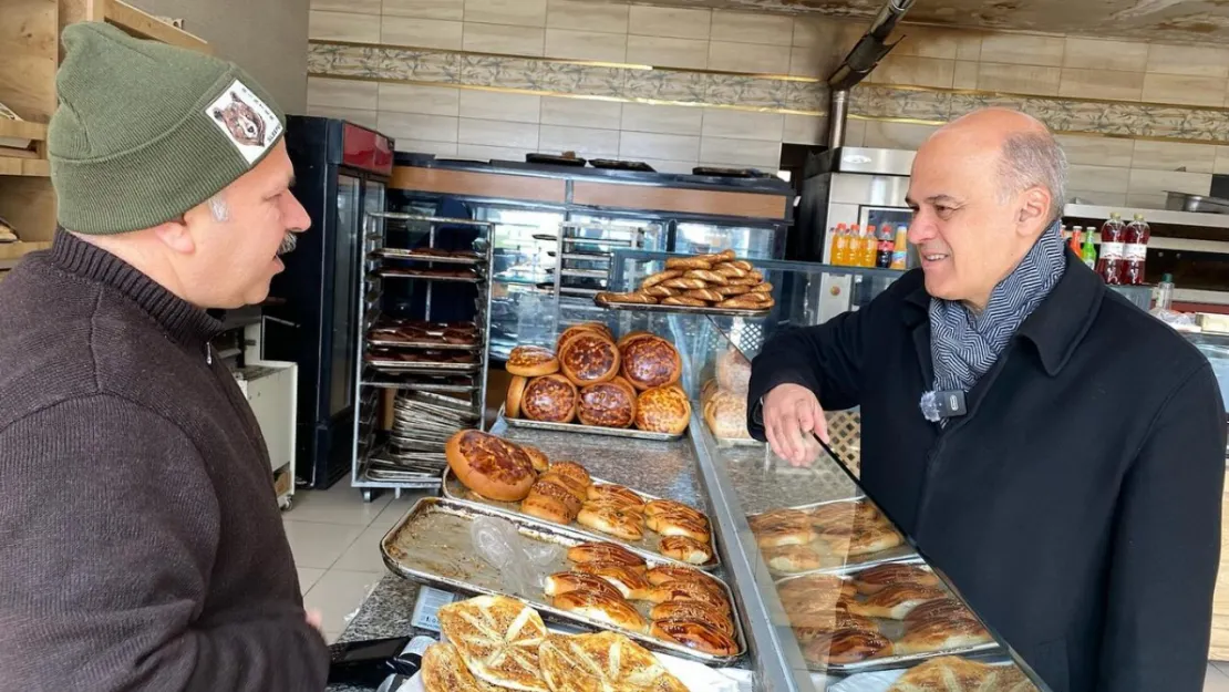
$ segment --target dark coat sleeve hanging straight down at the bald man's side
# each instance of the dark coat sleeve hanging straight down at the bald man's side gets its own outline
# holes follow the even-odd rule
[[[1203,690],[1224,455],[1224,403],[1204,364],[1164,404],[1123,481],[1097,690]]]

